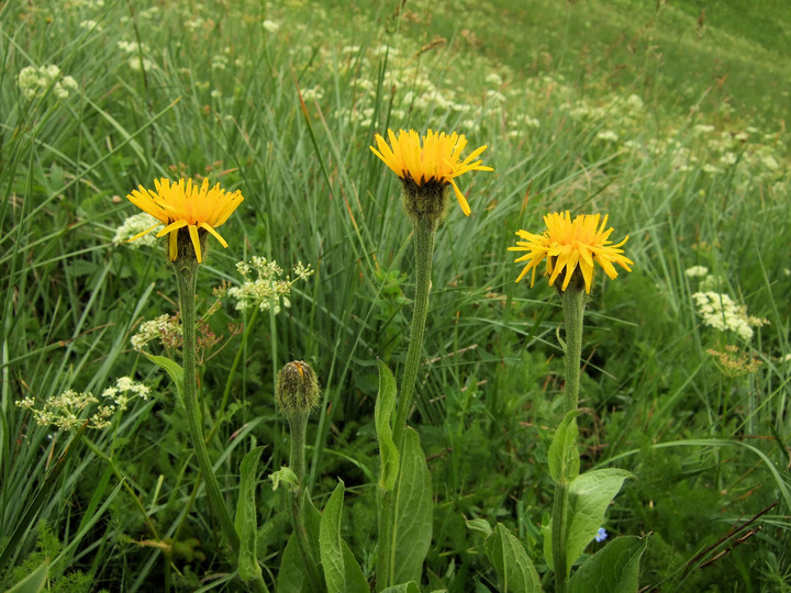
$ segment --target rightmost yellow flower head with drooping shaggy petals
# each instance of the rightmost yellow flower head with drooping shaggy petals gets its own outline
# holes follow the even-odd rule
[[[517,240],[516,247],[509,247],[509,251],[528,251],[527,255],[514,260],[514,262],[527,261],[516,281],[519,282],[530,270],[533,270],[532,287],[535,282],[536,268],[545,258],[549,286],[553,286],[557,277],[566,270],[561,291],[568,287],[578,266],[588,293],[593,283],[593,268],[597,264],[613,279],[617,276],[613,264],[632,271],[630,265],[634,262],[623,255],[623,249],[619,248],[626,243],[628,236],[617,245],[611,245],[609,237],[613,230],[604,230],[606,215],[601,221],[601,225],[600,219],[601,214],[580,214],[572,221],[568,211],[562,214],[555,212],[544,216],[547,228],[543,235],[516,231],[516,235],[524,240]]]

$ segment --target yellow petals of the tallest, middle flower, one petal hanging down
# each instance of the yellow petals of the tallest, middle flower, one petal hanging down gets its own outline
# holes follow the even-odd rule
[[[419,188],[426,184],[441,184],[443,187],[450,183],[456,193],[456,199],[461,206],[464,213],[469,216],[470,208],[461,191],[459,191],[455,177],[467,171],[493,171],[491,167],[481,165],[482,160],[475,160],[486,146],[480,146],[470,153],[470,155],[461,160],[461,152],[467,146],[467,139],[456,132],[449,136],[445,132],[432,132],[428,130],[422,138],[417,132],[410,130],[399,131],[396,136],[392,130],[388,130],[390,145],[379,134],[376,135],[376,142],[379,149],[372,146],[370,149],[376,156],[385,161],[385,165],[399,176],[404,183],[414,183]]]

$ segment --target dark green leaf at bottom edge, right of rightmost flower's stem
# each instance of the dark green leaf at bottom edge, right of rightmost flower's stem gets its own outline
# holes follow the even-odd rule
[[[647,545],[647,537],[616,537],[571,575],[569,593],[634,593]]]

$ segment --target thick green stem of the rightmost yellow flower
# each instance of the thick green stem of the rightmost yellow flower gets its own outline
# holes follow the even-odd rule
[[[584,315],[586,292],[581,288],[569,287],[560,294],[566,325],[566,389],[564,392],[562,417],[577,410],[579,404],[579,376],[582,354],[582,317]],[[577,422],[577,421],[573,421]],[[555,591],[566,593],[568,570],[566,564],[566,538],[568,536],[568,479],[561,475],[555,486],[553,503],[552,538],[553,561],[555,564]]]

